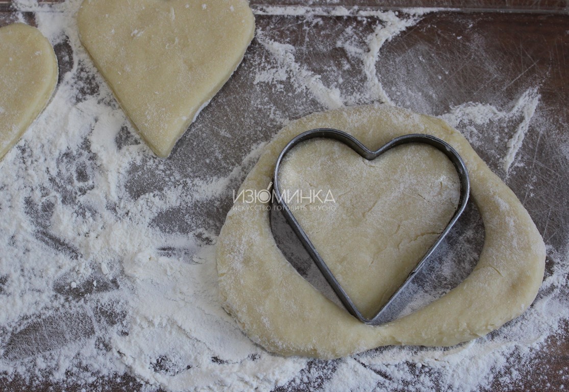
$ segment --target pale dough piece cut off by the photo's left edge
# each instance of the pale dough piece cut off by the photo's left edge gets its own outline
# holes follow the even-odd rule
[[[0,159],[46,107],[57,74],[53,47],[37,28],[0,28]]]

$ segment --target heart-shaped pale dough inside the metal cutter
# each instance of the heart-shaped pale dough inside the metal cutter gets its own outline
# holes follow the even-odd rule
[[[295,146],[279,172],[300,227],[366,319],[405,282],[460,198],[452,162],[428,145],[366,160],[338,141],[313,139]]]

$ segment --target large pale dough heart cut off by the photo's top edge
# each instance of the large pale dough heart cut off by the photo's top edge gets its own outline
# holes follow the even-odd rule
[[[85,0],[77,18],[122,109],[164,157],[241,63],[255,27],[246,0]]]

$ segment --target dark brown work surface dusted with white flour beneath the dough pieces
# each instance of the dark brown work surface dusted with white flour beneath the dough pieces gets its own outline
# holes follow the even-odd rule
[[[0,164],[4,390],[567,385],[567,16],[254,6],[257,32],[243,63],[159,160],[81,47],[78,7],[3,19],[37,23],[60,66],[50,106]],[[545,283],[526,313],[470,344],[338,361],[271,356],[218,300],[212,243],[232,191],[286,121],[371,102],[440,116],[463,132],[542,233]],[[444,290],[476,262],[483,228],[476,211],[466,217],[434,259],[439,267],[426,270],[439,270],[432,279]],[[279,241],[294,253],[287,235]],[[452,265],[455,252],[466,265]],[[310,264],[298,269],[316,278]],[[401,312],[442,294],[413,290]]]

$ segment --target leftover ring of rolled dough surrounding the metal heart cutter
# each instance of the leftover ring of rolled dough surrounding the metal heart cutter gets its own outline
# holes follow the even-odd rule
[[[265,189],[284,145],[322,126],[348,131],[369,148],[415,132],[450,143],[471,176],[471,197],[484,222],[484,248],[475,270],[446,295],[401,319],[371,326],[336,306],[296,272],[275,244],[267,211],[251,211],[238,201],[236,207],[245,208],[228,213],[217,243],[217,269],[224,307],[252,340],[275,353],[320,358],[381,345],[448,346],[483,336],[530,306],[543,279],[543,240],[516,195],[467,140],[440,119],[391,106],[309,115],[285,127],[267,145],[241,189]]]

